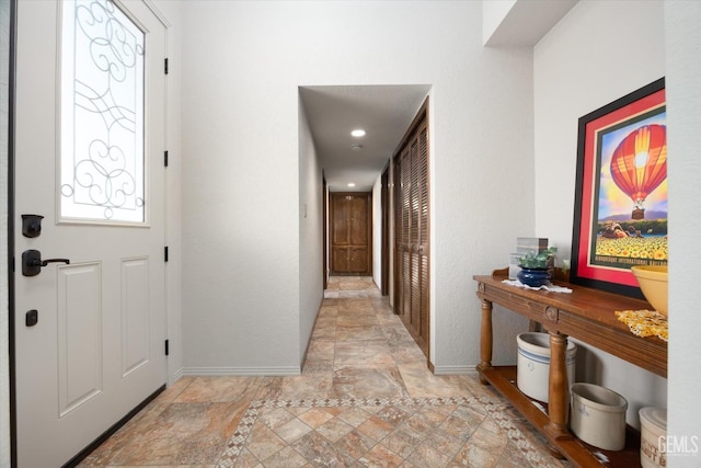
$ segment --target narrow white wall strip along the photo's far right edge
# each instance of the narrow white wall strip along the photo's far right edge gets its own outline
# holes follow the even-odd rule
[[[670,468],[701,464],[701,313],[698,272],[698,189],[701,186],[701,3],[665,2],[669,148],[669,398],[667,433],[690,450],[667,457]],[[696,445],[691,445],[694,443]],[[677,445],[679,446],[679,445]],[[691,449],[693,449],[691,452]]]

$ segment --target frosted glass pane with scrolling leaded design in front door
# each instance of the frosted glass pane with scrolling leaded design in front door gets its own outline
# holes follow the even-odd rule
[[[145,34],[110,0],[60,3],[60,220],[142,224]]]

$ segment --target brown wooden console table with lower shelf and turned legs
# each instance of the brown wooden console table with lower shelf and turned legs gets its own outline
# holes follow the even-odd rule
[[[604,465],[593,455],[593,452],[600,452],[610,459],[606,466],[640,466],[640,435],[634,431],[627,434],[627,446],[621,452],[591,447],[570,432],[565,351],[567,336],[572,336],[666,378],[667,343],[657,338],[633,335],[628,326],[614,315],[617,310],[652,310],[650,304],[560,281],[555,281],[555,284],[573,289],[572,294],[509,286],[503,283],[507,278],[507,272],[508,270],[497,270],[491,276],[474,276],[478,282],[476,295],[482,299],[481,363],[478,365],[480,380],[497,389],[548,437],[554,454],[567,458],[574,465],[601,467]],[[492,366],[493,304],[542,323],[550,333],[547,413],[518,390],[516,366]]]

